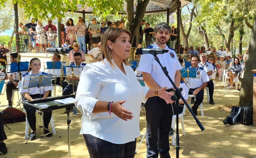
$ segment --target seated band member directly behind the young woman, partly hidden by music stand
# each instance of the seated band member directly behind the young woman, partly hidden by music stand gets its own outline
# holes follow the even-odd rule
[[[55,62],[59,62],[60,61],[60,55],[59,54],[53,54],[52,56],[52,61],[55,61]],[[61,62],[61,66],[66,66],[66,62]],[[48,74],[53,74],[53,75],[56,75],[56,76],[53,76],[53,79],[55,80],[52,80],[52,84],[53,85],[59,85],[62,87],[62,89],[65,88],[66,85],[63,85],[61,84],[60,80],[64,81],[65,80],[65,77],[64,78],[60,78],[61,76],[61,69],[45,69],[46,73]],[[56,78],[55,78],[56,77]]]

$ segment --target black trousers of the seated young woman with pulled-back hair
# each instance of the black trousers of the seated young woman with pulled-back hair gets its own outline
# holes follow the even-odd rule
[[[41,94],[41,97],[43,97],[44,94]],[[30,95],[33,99],[35,98],[40,98],[40,94],[34,94],[34,95]],[[49,93],[48,97],[51,96],[51,92]],[[27,119],[28,119],[28,123],[29,123],[29,126],[31,127],[31,129],[33,131],[36,130],[36,127],[35,127],[35,124],[36,124],[36,117],[35,117],[35,109],[31,108],[30,106],[27,106],[27,105],[23,105],[25,110],[26,110],[26,113],[27,113]],[[44,117],[43,117],[43,120],[44,120],[44,127],[48,129],[49,127],[49,123],[50,123],[50,120],[51,120],[51,117],[52,117],[52,111],[46,111],[44,112]]]

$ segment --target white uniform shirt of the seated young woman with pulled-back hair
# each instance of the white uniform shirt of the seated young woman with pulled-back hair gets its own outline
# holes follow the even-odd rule
[[[53,89],[52,86],[42,86],[40,88],[38,87],[33,87],[33,88],[26,88],[29,85],[29,80],[30,80],[30,75],[31,75],[32,71],[26,73],[21,80],[21,88],[20,88],[20,92],[28,92],[29,95],[33,95],[33,94],[45,94],[45,91],[50,91]],[[39,74],[42,74],[41,71],[39,71]],[[25,89],[24,89],[25,88]],[[41,89],[41,91],[40,91]],[[41,92],[41,93],[40,93]]]

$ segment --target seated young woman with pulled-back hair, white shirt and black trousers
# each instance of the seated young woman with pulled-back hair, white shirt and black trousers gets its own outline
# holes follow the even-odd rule
[[[41,61],[38,58],[32,58],[29,62],[29,68],[28,72],[23,75],[22,80],[21,80],[21,88],[20,92],[23,93],[24,97],[32,101],[35,98],[43,98],[45,99],[46,97],[51,96],[50,90],[53,89],[52,86],[46,86],[46,87],[33,87],[33,88],[26,88],[29,85],[29,77],[31,74],[47,74],[45,72],[40,71],[41,68]],[[27,119],[29,122],[29,125],[31,127],[32,132],[29,134],[29,139],[34,140],[35,139],[35,132],[36,132],[36,118],[35,118],[35,109],[31,108],[30,106],[24,105],[24,108],[27,111]],[[44,127],[48,129],[49,122],[52,117],[52,111],[46,111],[44,112]],[[44,133],[47,134],[49,131],[44,129]],[[46,135],[47,137],[51,137],[52,133],[49,133]]]

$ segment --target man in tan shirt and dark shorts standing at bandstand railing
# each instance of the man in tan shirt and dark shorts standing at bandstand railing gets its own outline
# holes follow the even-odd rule
[[[92,24],[88,27],[88,31],[92,34],[93,48],[96,48],[96,43],[100,42],[100,24],[96,23],[96,19],[92,19]]]

